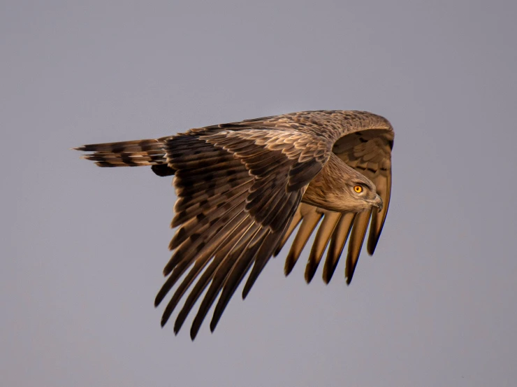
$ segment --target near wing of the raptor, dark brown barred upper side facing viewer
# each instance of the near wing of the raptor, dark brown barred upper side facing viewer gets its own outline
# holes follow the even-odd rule
[[[170,241],[174,250],[156,295],[158,305],[182,278],[163,312],[162,325],[189,291],[175,321],[180,330],[205,288],[191,337],[220,293],[210,329],[252,267],[242,296],[279,244],[312,178],[332,151],[317,136],[275,127],[219,125],[166,140],[177,193]],[[189,269],[189,272],[187,272]],[[190,286],[193,285],[193,288]]]

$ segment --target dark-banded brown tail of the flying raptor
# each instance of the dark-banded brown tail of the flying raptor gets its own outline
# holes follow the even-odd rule
[[[139,167],[166,164],[166,137],[161,139],[94,143],[73,148],[83,152],[82,159],[92,160],[99,167]]]

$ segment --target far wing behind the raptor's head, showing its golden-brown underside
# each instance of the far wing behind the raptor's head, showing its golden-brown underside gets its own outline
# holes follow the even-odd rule
[[[374,119],[379,116],[372,115]],[[380,118],[379,118],[380,119]],[[381,119],[379,122],[387,122]],[[367,125],[363,125],[365,127]],[[286,259],[285,272],[289,274],[296,261],[300,257],[305,244],[316,226],[320,223],[314,237],[314,243],[310,251],[309,260],[305,269],[305,279],[312,280],[314,273],[321,261],[323,253],[328,246],[326,261],[323,266],[323,281],[328,283],[335,271],[337,261],[343,251],[344,244],[349,239],[347,264],[345,277],[347,283],[351,282],[352,276],[363,246],[368,223],[370,223],[370,234],[367,241],[367,251],[370,255],[374,253],[377,241],[386,220],[391,194],[391,149],[393,148],[393,129],[391,125],[379,125],[377,129],[375,121],[369,129],[360,126],[350,125],[344,127],[342,135],[333,145],[333,153],[346,162],[361,174],[369,178],[377,187],[377,193],[382,198],[384,206],[381,211],[373,209],[361,213],[337,213],[319,209],[310,204],[301,204],[291,220],[282,241],[275,251],[277,255],[286,243],[289,236],[300,224],[296,237],[291,245]]]

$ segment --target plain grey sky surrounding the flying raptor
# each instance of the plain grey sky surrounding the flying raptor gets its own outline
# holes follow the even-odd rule
[[[2,1],[0,384],[514,386],[516,11]],[[213,335],[162,330],[170,178],[68,148],[307,109],[395,127],[374,257],[307,286],[284,251]]]

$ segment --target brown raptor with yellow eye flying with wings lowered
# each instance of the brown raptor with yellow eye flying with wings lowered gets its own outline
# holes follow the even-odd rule
[[[147,166],[173,176],[173,253],[154,305],[177,285],[161,318],[163,327],[185,299],[175,318],[177,335],[207,289],[191,324],[194,340],[214,302],[212,332],[246,274],[243,299],[295,230],[286,276],[319,225],[305,280],[312,281],[327,251],[322,276],[329,283],[348,240],[344,276],[350,284],[368,225],[372,255],[386,220],[394,137],[381,115],[321,110],[73,149],[99,167]]]

